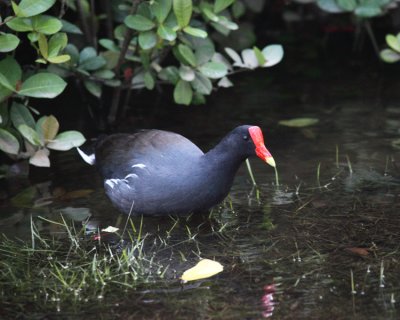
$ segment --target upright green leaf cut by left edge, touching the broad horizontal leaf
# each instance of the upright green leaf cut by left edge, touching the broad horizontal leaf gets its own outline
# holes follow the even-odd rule
[[[21,76],[21,67],[14,58],[7,56],[0,61],[0,100],[16,90]]]

